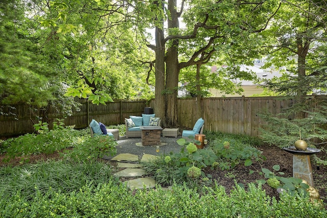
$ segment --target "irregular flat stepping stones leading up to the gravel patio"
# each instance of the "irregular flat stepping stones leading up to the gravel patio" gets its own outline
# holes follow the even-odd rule
[[[147,162],[158,156],[151,154],[144,154],[142,159],[139,160],[137,155],[133,154],[119,154],[113,157],[112,161],[117,161],[118,167],[125,168],[120,172],[115,173],[115,176],[118,177],[139,177],[136,179],[126,181],[127,186],[130,189],[143,189],[146,188],[154,188],[155,180],[151,177],[143,177],[146,176],[146,172],[142,169],[142,164],[140,162]]]

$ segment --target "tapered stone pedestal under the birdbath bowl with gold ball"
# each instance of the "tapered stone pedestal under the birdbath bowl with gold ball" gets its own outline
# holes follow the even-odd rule
[[[309,155],[293,155],[293,177],[307,180],[308,184],[314,187]]]

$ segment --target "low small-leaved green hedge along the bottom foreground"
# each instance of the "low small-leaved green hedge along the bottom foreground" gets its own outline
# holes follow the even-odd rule
[[[78,191],[35,191],[27,200],[21,192],[0,199],[1,217],[326,217],[308,198],[282,195],[279,201],[261,186],[240,186],[227,195],[217,184],[205,195],[186,186],[171,190],[130,191],[123,184],[108,182],[85,185]],[[1,195],[1,194],[0,194]]]

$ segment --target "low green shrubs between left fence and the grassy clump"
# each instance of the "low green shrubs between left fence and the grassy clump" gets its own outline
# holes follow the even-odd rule
[[[33,154],[52,154],[58,151],[63,151],[65,158],[89,160],[114,155],[116,152],[117,143],[112,137],[90,137],[88,129],[78,131],[66,127],[49,130],[44,123],[36,125],[35,129],[38,134],[28,133],[2,142],[0,152],[5,154],[5,161],[20,157],[21,161],[28,162]]]

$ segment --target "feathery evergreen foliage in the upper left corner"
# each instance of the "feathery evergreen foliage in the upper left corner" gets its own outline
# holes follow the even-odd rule
[[[53,100],[54,70],[32,40],[33,25],[24,1],[3,1],[0,6],[0,99],[2,104],[25,102],[44,106]],[[13,22],[15,21],[15,22]]]

